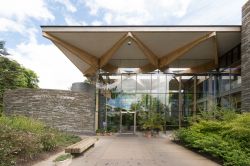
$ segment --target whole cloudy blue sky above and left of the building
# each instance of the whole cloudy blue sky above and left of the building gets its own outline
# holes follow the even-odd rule
[[[68,90],[82,73],[41,25],[241,25],[247,0],[0,0],[0,41],[8,57],[39,76],[45,89]]]

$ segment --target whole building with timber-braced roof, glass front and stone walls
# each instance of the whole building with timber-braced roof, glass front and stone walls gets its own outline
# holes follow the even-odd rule
[[[77,83],[72,87],[74,91],[90,94],[87,99],[86,95],[76,92],[60,92],[63,96],[59,97],[54,91],[39,92],[40,98],[52,94],[57,96],[53,100],[63,100],[51,108],[58,108],[53,113],[57,115],[63,103],[65,118],[59,119],[58,115],[53,120],[51,115],[52,120],[46,119],[53,123],[58,120],[59,127],[85,131],[81,128],[93,124],[88,131],[94,131],[112,124],[123,130],[124,123],[130,123],[135,131],[136,114],[155,110],[165,116],[167,129],[184,125],[186,117],[201,110],[209,111],[213,105],[241,112],[250,110],[250,1],[242,8],[241,26],[41,28],[43,36],[51,40],[90,83]],[[10,105],[7,110],[18,108],[7,98],[23,94],[7,94],[5,103]],[[27,99],[33,99],[32,95]],[[50,103],[52,98],[47,98]],[[66,99],[72,99],[70,104]],[[77,105],[79,109],[75,110],[79,114],[73,115],[69,106]],[[40,110],[42,115],[47,115],[44,108]],[[40,114],[36,113],[38,117]]]

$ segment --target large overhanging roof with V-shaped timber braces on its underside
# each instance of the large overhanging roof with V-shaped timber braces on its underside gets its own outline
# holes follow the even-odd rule
[[[241,41],[241,26],[41,27],[43,36],[86,76],[117,68],[210,70]]]

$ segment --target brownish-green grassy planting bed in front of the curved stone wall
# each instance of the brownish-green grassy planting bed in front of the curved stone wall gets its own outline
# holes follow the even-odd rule
[[[0,166],[18,165],[80,141],[81,138],[60,132],[24,116],[0,117]]]

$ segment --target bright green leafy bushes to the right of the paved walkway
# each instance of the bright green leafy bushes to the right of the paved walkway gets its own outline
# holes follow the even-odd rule
[[[223,160],[226,166],[250,165],[250,113],[206,112],[188,128],[175,133],[188,147]]]

